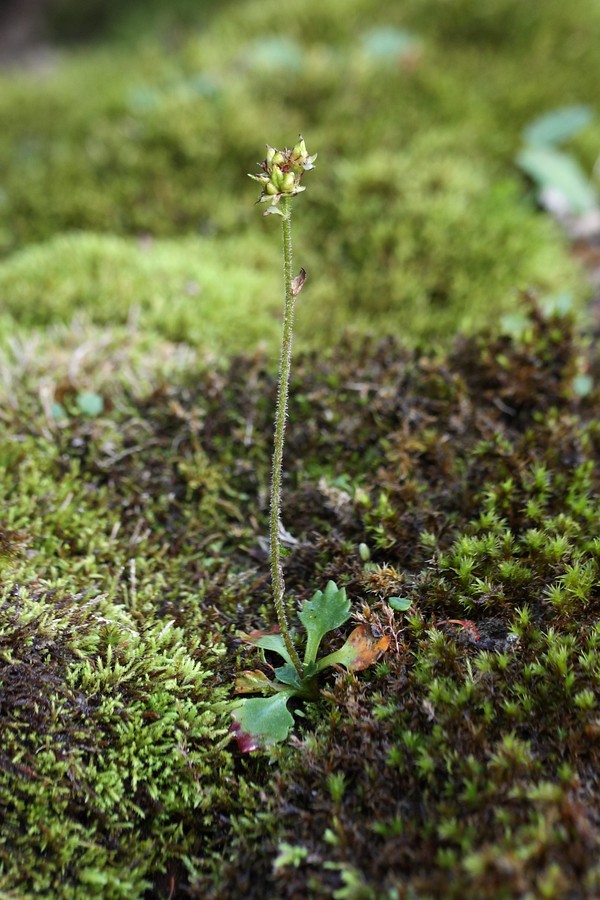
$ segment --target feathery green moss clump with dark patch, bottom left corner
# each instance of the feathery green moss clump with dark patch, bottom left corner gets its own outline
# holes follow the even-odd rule
[[[93,591],[15,587],[1,616],[0,884],[141,896],[224,799],[223,691],[207,668],[222,648],[140,628]]]

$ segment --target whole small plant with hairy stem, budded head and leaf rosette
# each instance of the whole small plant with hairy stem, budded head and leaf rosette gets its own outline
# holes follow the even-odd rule
[[[241,635],[253,647],[278,654],[283,665],[274,669],[270,679],[260,669],[243,672],[236,680],[236,693],[262,693],[266,697],[244,698],[236,701],[232,716],[232,731],[240,749],[246,753],[285,740],[294,719],[287,704],[292,697],[316,700],[319,696],[317,676],[327,666],[342,665],[349,670],[370,666],[387,649],[389,638],[376,638],[366,625],[360,625],[346,643],[334,653],[317,659],[325,635],[339,628],[350,617],[350,601],[345,589],[330,581],[324,591],[316,591],[306,600],[298,614],[306,631],[302,658],[290,634],[285,611],[285,581],[281,563],[281,480],[283,447],[287,420],[294,307],[306,281],[300,269],[292,275],[292,199],[306,188],[301,184],[305,172],[314,169],[317,154],[310,156],[304,138],[291,149],[277,150],[267,144],[267,155],[259,163],[261,173],[250,178],[262,186],[257,202],[268,203],[264,215],[281,218],[283,234],[284,306],[279,359],[279,381],[275,412],[275,435],[271,477],[270,506],[270,562],[273,603],[279,625],[271,631],[253,631]]]

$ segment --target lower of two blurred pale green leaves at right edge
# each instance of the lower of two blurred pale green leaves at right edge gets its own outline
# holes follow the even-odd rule
[[[571,156],[550,147],[525,147],[515,160],[541,189],[558,191],[570,211],[582,214],[598,205],[596,190]]]

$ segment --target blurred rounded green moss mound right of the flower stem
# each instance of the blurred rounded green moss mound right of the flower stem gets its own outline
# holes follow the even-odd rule
[[[333,276],[315,286],[309,320],[330,340],[348,323],[441,338],[498,321],[519,289],[581,291],[557,229],[447,134],[340,162],[334,173],[317,199],[319,256],[308,260],[318,271],[325,256]]]

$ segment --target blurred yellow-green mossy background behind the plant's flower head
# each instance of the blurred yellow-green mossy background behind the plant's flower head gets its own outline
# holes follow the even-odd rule
[[[36,35],[0,75],[9,330],[137,310],[170,340],[274,346],[279,235],[246,173],[300,131],[319,153],[295,204],[304,345],[586,296],[514,160],[537,116],[595,108],[595,0],[48,0]],[[591,171],[599,146],[594,117],[569,149]]]

